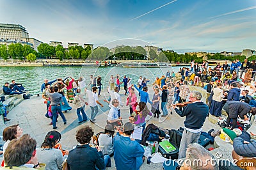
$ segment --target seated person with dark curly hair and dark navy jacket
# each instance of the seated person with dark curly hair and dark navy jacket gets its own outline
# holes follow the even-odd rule
[[[77,169],[104,169],[104,157],[99,146],[90,147],[93,136],[92,127],[84,126],[76,132],[76,148],[69,151],[67,166],[70,170]],[[119,160],[118,160],[119,161]]]

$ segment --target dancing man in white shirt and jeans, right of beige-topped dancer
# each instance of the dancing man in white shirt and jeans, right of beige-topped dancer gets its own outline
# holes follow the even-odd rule
[[[90,121],[92,123],[95,123],[95,117],[96,117],[97,113],[99,112],[97,104],[99,104],[101,107],[103,107],[103,105],[100,104],[100,102],[99,102],[98,95],[96,94],[97,89],[98,89],[97,87],[93,87],[92,91],[88,90],[87,88],[84,89],[84,91],[88,95],[88,104],[89,104],[89,106],[91,107],[91,110],[92,110],[91,119],[90,119]]]

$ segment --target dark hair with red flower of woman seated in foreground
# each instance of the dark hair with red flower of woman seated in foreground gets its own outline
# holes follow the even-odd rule
[[[44,142],[42,143],[41,148],[53,148],[56,143],[61,139],[60,132],[52,130],[45,135]]]

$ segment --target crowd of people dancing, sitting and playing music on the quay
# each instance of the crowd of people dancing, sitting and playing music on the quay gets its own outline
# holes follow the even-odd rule
[[[6,152],[4,165],[6,168],[19,166],[40,168],[40,166],[45,166],[45,169],[61,169],[65,165],[67,169],[104,169],[111,167],[110,158],[113,157],[116,169],[140,169],[145,160],[143,157],[144,149],[140,143],[145,143],[143,139],[141,142],[131,138],[134,126],[142,127],[143,132],[147,132],[147,127],[152,126],[147,126],[148,118],[166,117],[173,114],[174,111],[181,117],[186,116],[185,129],[180,141],[179,158],[188,157],[186,154],[191,154],[193,148],[201,151],[200,153],[193,152],[198,157],[212,157],[207,150],[191,143],[198,143],[205,119],[209,114],[222,118],[221,111],[225,110],[228,114],[227,127],[230,130],[237,128],[237,119],[246,121],[250,119],[250,116],[256,114],[256,102],[253,98],[254,93],[256,93],[255,84],[253,84],[253,79],[255,79],[254,65],[255,61],[250,63],[244,59],[243,63],[236,60],[231,65],[228,65],[227,62],[223,65],[218,63],[216,67],[211,69],[207,61],[204,61],[202,65],[191,61],[191,68],[180,68],[180,72],[176,74],[168,71],[166,75],[162,75],[160,78],[156,77],[152,83],[154,91],[152,98],[148,94],[148,88],[150,88],[148,82],[150,80],[146,77],[140,76],[137,84],[134,84],[131,77],[111,75],[108,81],[109,98],[104,100],[109,106],[104,133],[97,134],[97,139],[93,144],[90,144],[91,139],[95,137],[92,127],[87,125],[79,128],[76,132],[76,139],[79,144],[70,151],[61,149],[61,134],[55,130],[58,115],[66,124],[67,120],[63,112],[67,112],[73,107],[77,111],[78,123],[87,120],[96,123],[99,112],[98,105],[104,107],[99,100],[102,91],[102,79],[100,76],[90,75],[88,86],[86,86],[84,77],[79,77],[77,80],[72,77],[53,81],[45,79],[41,87],[47,109],[45,116],[51,118],[50,125],[54,130],[48,132],[41,147],[36,148],[35,139],[32,139],[28,134],[22,135],[22,129],[19,125],[6,128],[3,132],[5,133],[3,136],[6,136],[4,137],[4,141],[6,141],[4,144],[4,152]],[[202,93],[189,90],[189,84],[199,86],[200,82],[203,82],[201,86],[209,93],[207,104],[202,102]],[[205,85],[205,83],[208,84]],[[120,96],[122,84],[124,84],[125,102]],[[18,85],[14,85],[12,88],[16,87],[16,91]],[[20,89],[20,93],[23,93],[24,90],[26,89]],[[138,95],[136,91],[138,91]],[[191,103],[177,109],[177,103],[184,104],[188,97]],[[86,105],[90,106],[90,118],[84,111]],[[129,122],[126,123],[123,123],[122,120],[122,114],[126,113],[121,112],[120,109],[124,105],[129,106],[130,118]],[[114,135],[115,130],[117,131],[116,135]],[[148,139],[150,137],[156,141],[161,141],[166,135],[161,133],[156,136],[150,135]],[[254,154],[241,156],[256,157],[256,142],[241,143],[241,140],[243,139],[234,141],[236,154],[240,154],[237,148],[251,147],[255,151]],[[15,148],[19,146],[23,147]],[[26,154],[18,158],[19,151]],[[13,157],[10,157],[10,154]],[[86,159],[84,159],[85,157]],[[65,159],[67,159],[66,163]],[[39,164],[39,162],[44,164]],[[218,168],[209,166],[204,168]],[[191,167],[189,168],[191,169]]]

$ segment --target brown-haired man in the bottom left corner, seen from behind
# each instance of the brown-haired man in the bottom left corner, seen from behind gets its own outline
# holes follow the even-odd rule
[[[3,169],[39,169],[36,157],[36,140],[29,134],[24,134],[19,139],[13,139],[4,153]]]

